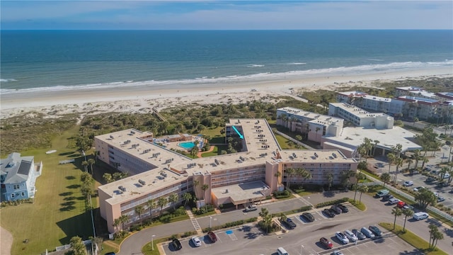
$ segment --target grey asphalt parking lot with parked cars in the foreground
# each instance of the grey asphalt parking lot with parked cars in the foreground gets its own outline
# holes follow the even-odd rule
[[[345,229],[360,229],[369,225],[376,225],[372,219],[362,217],[364,212],[349,206],[349,212],[329,218],[321,210],[316,210],[314,222],[306,222],[299,215],[290,215],[297,227],[287,230],[285,234],[265,235],[256,226],[246,225],[241,228],[215,232],[218,241],[210,242],[207,236],[200,237],[202,245],[195,247],[190,239],[180,239],[182,249],[175,251],[168,244],[163,248],[166,254],[277,254],[279,246],[285,247],[289,254],[331,254],[334,249],[340,249],[343,254],[401,254],[407,251],[414,253],[413,246],[393,235],[385,235],[381,239],[365,239],[357,244],[343,245],[336,237],[335,232],[344,232]],[[370,222],[371,220],[371,222]],[[383,231],[384,229],[381,228]],[[333,249],[326,250],[319,242],[326,237],[333,244]],[[394,251],[394,253],[392,253]]]

